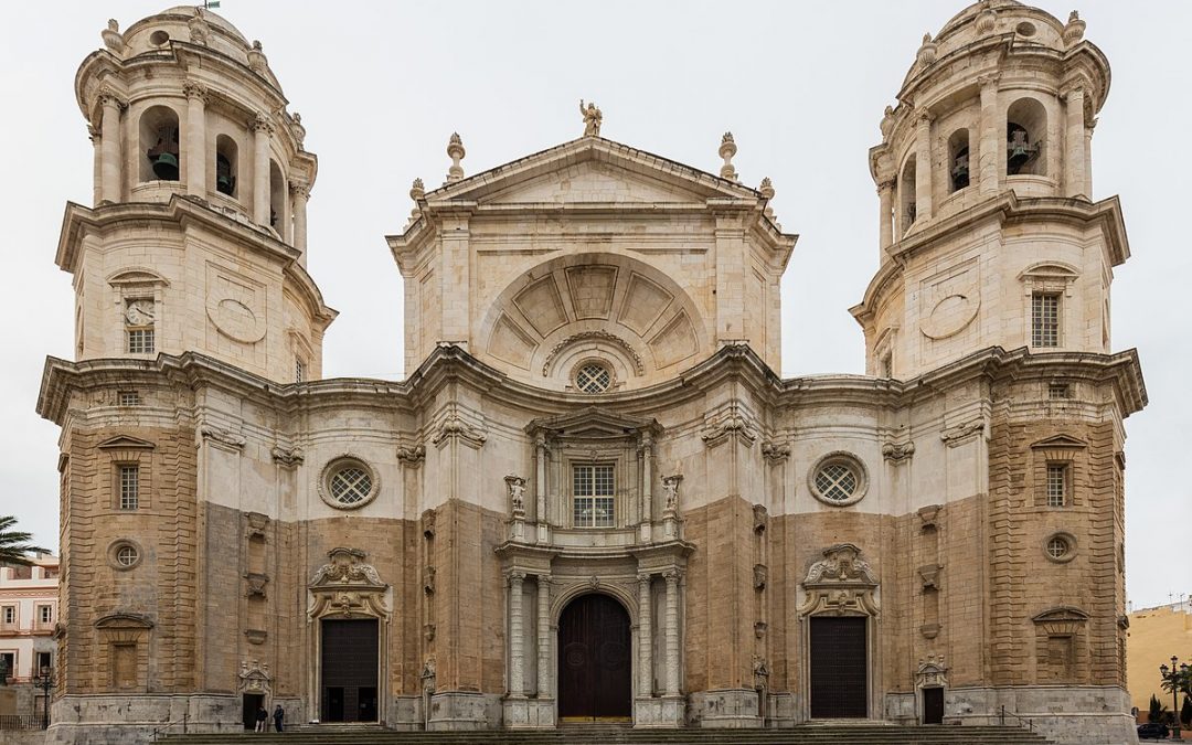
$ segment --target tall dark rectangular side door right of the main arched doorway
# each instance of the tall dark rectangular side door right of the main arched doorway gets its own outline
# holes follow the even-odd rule
[[[868,619],[811,617],[812,719],[869,715]]]

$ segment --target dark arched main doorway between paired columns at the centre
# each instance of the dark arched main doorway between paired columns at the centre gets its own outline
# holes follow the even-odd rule
[[[629,614],[607,595],[582,595],[559,616],[559,719],[631,721]]]

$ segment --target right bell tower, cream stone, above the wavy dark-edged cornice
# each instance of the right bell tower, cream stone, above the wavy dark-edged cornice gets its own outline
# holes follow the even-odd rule
[[[869,374],[995,346],[1109,353],[1130,250],[1117,198],[1092,199],[1110,68],[1085,27],[985,0],[924,36],[870,150],[881,267],[852,309]]]

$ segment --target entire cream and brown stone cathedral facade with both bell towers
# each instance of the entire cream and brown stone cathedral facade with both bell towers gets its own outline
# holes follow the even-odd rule
[[[796,236],[584,135],[410,191],[404,380],[324,379],[317,161],[259,43],[179,7],[79,70],[57,741],[187,716],[404,730],[1032,718],[1132,741],[1129,246],[1107,61],[1012,0],[926,37],[870,150],[865,375],[781,378]]]

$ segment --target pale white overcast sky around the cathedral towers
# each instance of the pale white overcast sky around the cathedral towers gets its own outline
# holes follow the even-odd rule
[[[1039,5],[1060,18],[1070,6]],[[72,290],[54,266],[66,201],[89,204],[92,147],[74,74],[116,17],[166,2],[5,5],[0,48],[4,288],[0,514],[57,545],[57,428],[37,417],[46,354],[72,355]],[[602,135],[716,172],[732,130],[745,184],[774,179],[783,228],[801,235],[783,283],[784,377],[863,372],[848,313],[877,263],[867,150],[925,31],[958,1],[362,2],[224,0],[303,114],[319,156],[309,268],[341,311],[324,373],[396,378],[402,283],[383,238],[409,215],[415,176],[437,186],[459,131],[467,174],[572,139],[579,98]],[[1150,406],[1126,422],[1126,566],[1136,608],[1192,592],[1192,327],[1185,236],[1192,188],[1192,4],[1079,2],[1113,66],[1093,138],[1094,197],[1120,194],[1134,257],[1116,273],[1113,347],[1137,347]]]

